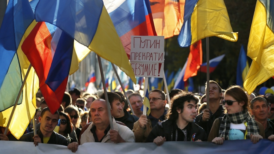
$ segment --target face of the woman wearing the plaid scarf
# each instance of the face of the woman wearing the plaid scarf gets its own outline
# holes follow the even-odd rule
[[[225,99],[224,100],[232,100],[235,101],[235,98],[233,98],[232,96],[229,95],[225,95]],[[233,113],[238,113],[243,111],[243,102],[233,102],[232,105],[227,105],[227,103],[225,103],[225,108],[227,110],[228,114],[233,114]]]

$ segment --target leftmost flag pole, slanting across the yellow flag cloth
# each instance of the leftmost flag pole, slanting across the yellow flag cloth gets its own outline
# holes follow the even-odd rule
[[[29,72],[31,71],[31,67],[32,67],[32,65],[29,64],[29,68],[28,68],[28,70],[27,70],[27,73],[26,73],[25,78],[24,78],[24,80],[23,80],[23,82],[22,82],[21,88],[20,88],[19,93],[18,93],[18,95],[17,95],[17,98],[16,98],[16,100],[15,100],[13,109],[12,109],[12,111],[11,111],[11,116],[9,116],[9,121],[8,121],[8,123],[7,123],[7,127],[6,127],[5,132],[4,132],[5,135],[7,135],[7,132],[8,132],[8,129],[9,129],[9,125],[11,124],[11,119],[12,119],[12,117],[13,117],[13,114],[14,114],[14,112],[15,112],[17,103],[18,103],[19,98],[20,98],[20,95],[21,95],[21,93],[22,93],[22,91],[23,91],[23,88],[24,88],[24,86],[25,86],[25,83],[26,83],[26,81],[27,81],[27,77],[29,76]]]

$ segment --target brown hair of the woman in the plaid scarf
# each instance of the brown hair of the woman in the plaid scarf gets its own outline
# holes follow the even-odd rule
[[[230,86],[226,89],[225,95],[233,97],[235,100],[239,101],[239,103],[243,101],[245,103],[243,109],[247,109],[250,113],[250,102],[242,87],[238,85]]]

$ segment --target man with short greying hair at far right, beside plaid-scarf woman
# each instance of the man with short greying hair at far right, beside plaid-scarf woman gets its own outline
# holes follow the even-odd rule
[[[261,96],[253,98],[250,102],[251,113],[257,122],[263,125],[265,130],[265,138],[274,141],[274,124],[267,120],[269,106],[267,100]]]

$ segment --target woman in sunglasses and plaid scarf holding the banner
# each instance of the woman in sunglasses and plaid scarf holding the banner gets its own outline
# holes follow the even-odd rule
[[[230,86],[222,103],[225,116],[214,121],[207,141],[223,144],[224,140],[251,139],[257,143],[265,138],[263,125],[249,114],[250,102],[240,86]]]

